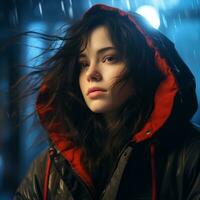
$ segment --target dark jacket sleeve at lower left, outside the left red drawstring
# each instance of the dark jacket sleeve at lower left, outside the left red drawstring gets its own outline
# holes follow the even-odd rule
[[[33,161],[27,175],[15,193],[14,200],[42,199],[46,161],[47,151]]]

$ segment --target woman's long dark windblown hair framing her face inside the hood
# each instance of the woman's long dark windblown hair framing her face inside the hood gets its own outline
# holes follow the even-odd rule
[[[121,105],[118,118],[110,124],[106,124],[102,114],[89,110],[79,87],[78,58],[91,32],[99,26],[107,28],[126,63],[127,73],[116,84],[131,79],[134,88],[134,94]],[[58,51],[43,63],[46,70],[42,72],[48,85],[46,104],[54,107],[45,121],[47,125],[59,121],[69,140],[82,148],[82,163],[92,175],[98,193],[123,146],[149,118],[155,91],[164,75],[156,66],[154,50],[126,15],[106,10],[88,12],[58,39],[62,40]],[[78,134],[70,134],[74,130]]]

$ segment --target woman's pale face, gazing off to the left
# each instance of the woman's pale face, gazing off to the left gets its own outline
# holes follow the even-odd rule
[[[132,89],[130,81],[112,87],[125,73],[126,66],[104,26],[92,31],[79,63],[79,84],[87,106],[92,112],[112,116]]]

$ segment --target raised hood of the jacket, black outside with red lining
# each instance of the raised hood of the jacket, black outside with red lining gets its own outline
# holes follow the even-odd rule
[[[143,128],[133,136],[133,140],[136,143],[139,143],[156,135],[157,131],[170,117],[172,110],[174,109],[175,100],[176,102],[178,101],[177,99],[181,99],[185,103],[181,105],[182,107],[180,106],[179,110],[185,110],[184,107],[188,106],[189,103],[194,105],[193,108],[189,107],[188,109],[191,110],[191,113],[185,112],[186,114],[184,114],[184,116],[188,115],[185,118],[190,118],[196,109],[194,79],[187,66],[178,56],[173,44],[158,31],[149,29],[145,24],[141,24],[137,19],[138,16],[136,14],[132,16],[116,8],[105,5],[95,5],[89,11],[87,11],[85,15],[90,15],[96,11],[103,10],[109,10],[112,12],[117,12],[122,16],[128,16],[133,26],[135,26],[144,36],[148,46],[154,49],[155,62],[166,76],[166,79],[160,84],[156,91],[154,98],[155,107],[151,113],[151,116]],[[188,86],[185,86],[183,83],[188,83]],[[46,117],[49,115],[49,113],[54,112],[53,104],[46,104],[45,99],[47,98],[48,85],[43,83],[37,100],[37,112],[45,129],[48,131],[50,140],[63,154],[63,156],[71,163],[72,167],[82,177],[82,179],[88,185],[91,185],[92,181],[80,163],[81,150],[74,148],[73,144],[67,140],[64,132],[62,134],[57,134],[56,130],[63,130],[59,123],[54,123],[50,126],[47,126]],[[182,115],[182,112],[180,113],[180,115]]]

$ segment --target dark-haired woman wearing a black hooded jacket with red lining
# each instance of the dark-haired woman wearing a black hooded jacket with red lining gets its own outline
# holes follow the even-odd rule
[[[166,37],[95,5],[45,64],[36,109],[50,148],[15,199],[200,199],[195,82]]]

